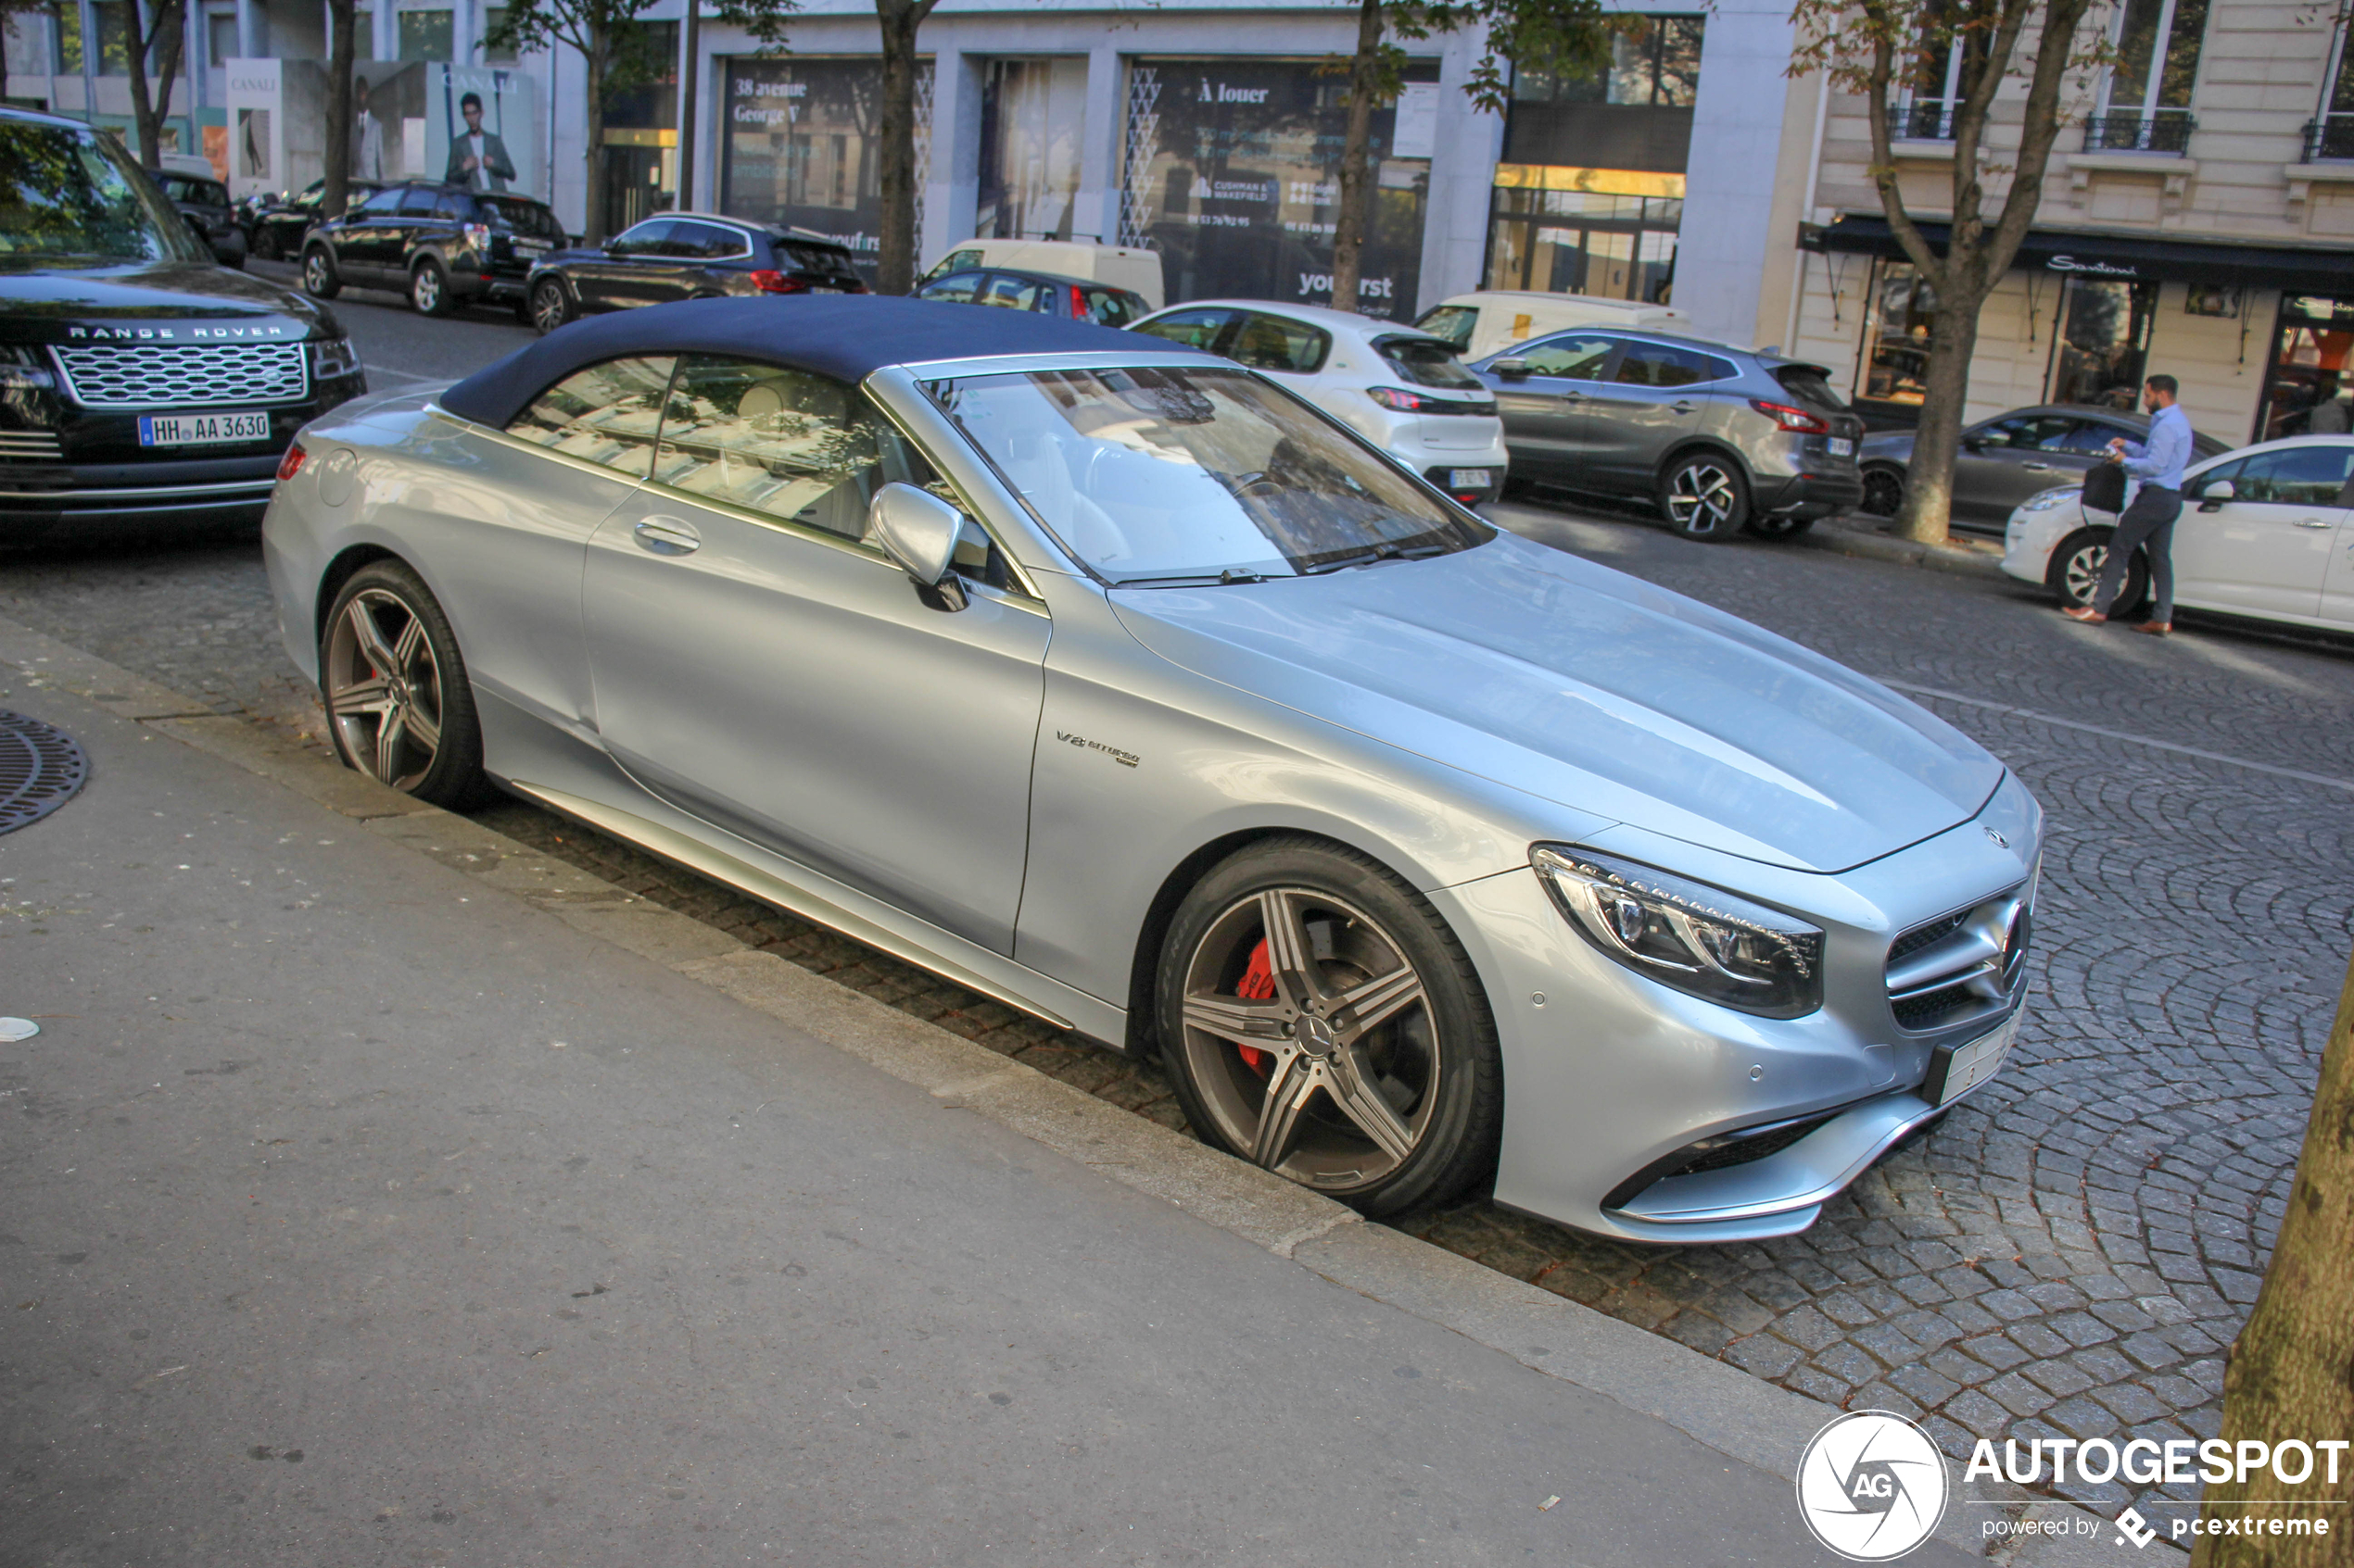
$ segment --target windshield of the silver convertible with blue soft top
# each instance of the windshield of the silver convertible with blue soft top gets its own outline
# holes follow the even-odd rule
[[[1238,369],[1069,369],[932,383],[1038,520],[1116,585],[1309,576],[1495,538]]]

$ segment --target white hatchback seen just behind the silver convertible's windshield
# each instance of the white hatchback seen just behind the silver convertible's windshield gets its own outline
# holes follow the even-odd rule
[[[1464,505],[1504,489],[1495,393],[1462,367],[1452,343],[1427,331],[1262,299],[1203,299],[1146,315],[1130,331],[1262,371]]]

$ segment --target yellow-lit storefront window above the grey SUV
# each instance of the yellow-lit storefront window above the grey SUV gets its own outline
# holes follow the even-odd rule
[[[1598,176],[1608,183],[1615,172],[1542,169],[1540,174]],[[1671,174],[1634,172],[1624,181],[1683,188],[1683,179]],[[1490,209],[1488,287],[1598,294],[1664,306],[1674,294],[1681,221],[1681,197],[1502,186]]]

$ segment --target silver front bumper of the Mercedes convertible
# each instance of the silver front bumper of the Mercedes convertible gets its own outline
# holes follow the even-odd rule
[[[1987,827],[2001,832],[1996,844]],[[1615,830],[1617,832],[1617,830]],[[1612,832],[1612,837],[1615,837]],[[1514,870],[1431,903],[1471,950],[1504,1053],[1504,1140],[1495,1197],[1575,1229],[1648,1244],[1784,1237],[1890,1147],[1944,1110],[1923,1098],[1940,1051],[2017,1018],[2020,966],[2001,1001],[1935,1030],[1902,1027],[1886,954],[1900,931],[2034,875],[2041,813],[2006,778],[1977,818],[1836,877],[1758,863],[1693,863],[1711,877],[1824,926],[1824,1006],[1754,1018],[1629,973],[1584,943]],[[1615,842],[1634,853],[1636,846]],[[1657,842],[1653,860],[1674,846]],[[1968,1091],[1977,1091],[1970,1084]],[[1959,1095],[1956,1095],[1959,1098]],[[1758,1138],[1756,1157],[1697,1161],[1695,1145]]]

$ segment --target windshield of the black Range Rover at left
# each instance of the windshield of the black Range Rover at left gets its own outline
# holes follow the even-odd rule
[[[212,261],[111,139],[21,120],[0,125],[0,256]]]

